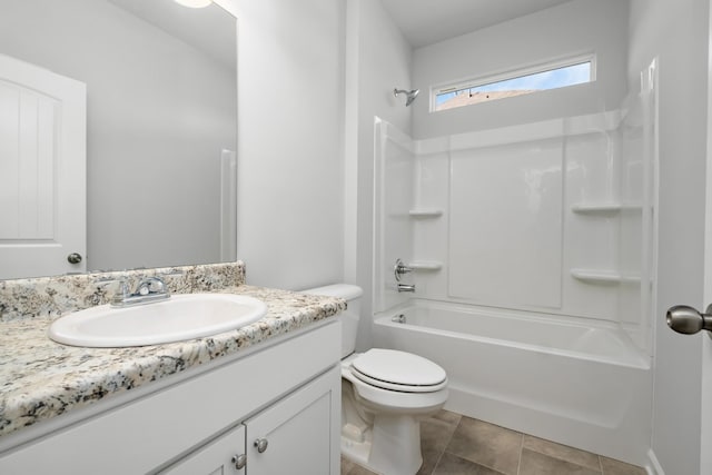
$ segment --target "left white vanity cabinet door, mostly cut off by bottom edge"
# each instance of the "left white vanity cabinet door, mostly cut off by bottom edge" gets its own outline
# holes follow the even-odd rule
[[[164,475],[241,475],[245,474],[245,469],[238,469],[233,458],[244,454],[245,426],[239,425],[160,473]]]

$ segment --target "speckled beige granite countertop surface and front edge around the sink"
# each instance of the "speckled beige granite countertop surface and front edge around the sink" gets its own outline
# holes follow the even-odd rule
[[[346,308],[337,298],[239,285],[222,293],[267,304],[257,323],[211,337],[130,348],[82,348],[47,336],[49,316],[0,321],[0,437],[165,378]]]

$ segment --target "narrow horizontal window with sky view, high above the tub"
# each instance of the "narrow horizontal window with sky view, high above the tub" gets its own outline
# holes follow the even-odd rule
[[[434,88],[432,111],[472,106],[490,100],[565,88],[595,80],[595,58],[574,58],[505,75],[451,83]]]

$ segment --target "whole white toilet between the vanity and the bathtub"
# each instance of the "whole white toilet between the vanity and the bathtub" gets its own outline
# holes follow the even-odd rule
[[[303,290],[339,297],[342,320],[342,454],[373,472],[414,475],[423,463],[419,418],[447,400],[447,375],[429,359],[394,349],[354,353],[360,287],[335,284]]]

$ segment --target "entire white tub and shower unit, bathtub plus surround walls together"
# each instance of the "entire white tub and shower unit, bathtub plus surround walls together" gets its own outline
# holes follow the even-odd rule
[[[446,407],[645,465],[654,77],[601,113],[424,140],[376,121],[374,342],[445,368]],[[409,301],[435,321],[392,323]]]

